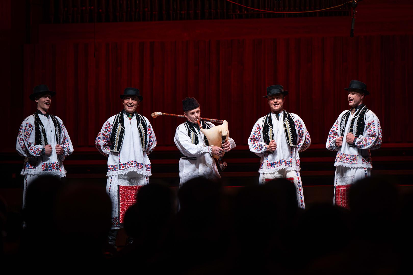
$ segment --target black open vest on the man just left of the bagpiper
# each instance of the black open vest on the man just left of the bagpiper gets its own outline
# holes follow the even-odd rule
[[[114,153],[119,153],[122,148],[123,138],[125,137],[125,123],[123,122],[123,112],[124,110],[121,110],[121,112],[116,115],[112,124],[112,133],[110,134],[110,151]],[[142,146],[142,151],[145,152],[146,141],[148,139],[146,120],[137,112],[135,112],[135,115],[140,136],[140,144]]]

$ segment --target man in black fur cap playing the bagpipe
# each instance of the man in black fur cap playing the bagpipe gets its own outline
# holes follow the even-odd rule
[[[181,152],[179,160],[179,185],[190,179],[202,176],[207,179],[221,178],[218,168],[211,154],[222,156],[235,147],[233,139],[223,143],[223,148],[209,146],[206,136],[199,131],[198,120],[201,118],[201,108],[195,97],[187,97],[182,101],[183,113],[187,120],[176,128],[175,144]],[[202,129],[209,129],[215,125],[200,120]]]

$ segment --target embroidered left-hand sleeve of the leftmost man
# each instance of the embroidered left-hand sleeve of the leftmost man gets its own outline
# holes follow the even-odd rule
[[[33,145],[35,134],[33,123],[26,118],[20,125],[19,134],[17,135],[16,150],[19,155],[24,157],[39,157],[42,155],[42,145]]]

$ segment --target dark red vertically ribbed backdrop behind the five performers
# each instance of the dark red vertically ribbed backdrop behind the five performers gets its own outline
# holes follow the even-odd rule
[[[190,24],[191,22],[188,22]],[[349,22],[348,22],[349,23]],[[218,31],[218,29],[216,30]],[[413,35],[246,38],[180,41],[50,42],[24,48],[23,112],[33,86],[57,92],[51,113],[62,118],[74,146],[93,146],[103,122],[122,109],[119,94],[137,87],[138,112],[153,125],[158,144],[174,146],[182,99],[195,96],[202,116],[228,120],[230,136],[247,144],[254,122],[269,111],[266,87],[289,91],[285,109],[303,118],[313,143],[325,143],[348,108],[350,80],[367,84],[366,105],[378,116],[386,142],[413,142],[411,119]],[[410,122],[409,122],[410,123]],[[14,137],[13,137],[14,139]]]

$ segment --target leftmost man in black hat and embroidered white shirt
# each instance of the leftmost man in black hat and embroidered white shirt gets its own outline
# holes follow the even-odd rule
[[[63,160],[73,153],[73,146],[60,118],[49,114],[52,96],[47,85],[37,85],[29,96],[37,110],[20,125],[16,150],[25,157],[21,175],[24,176],[23,208],[27,187],[38,176],[66,176]]]

